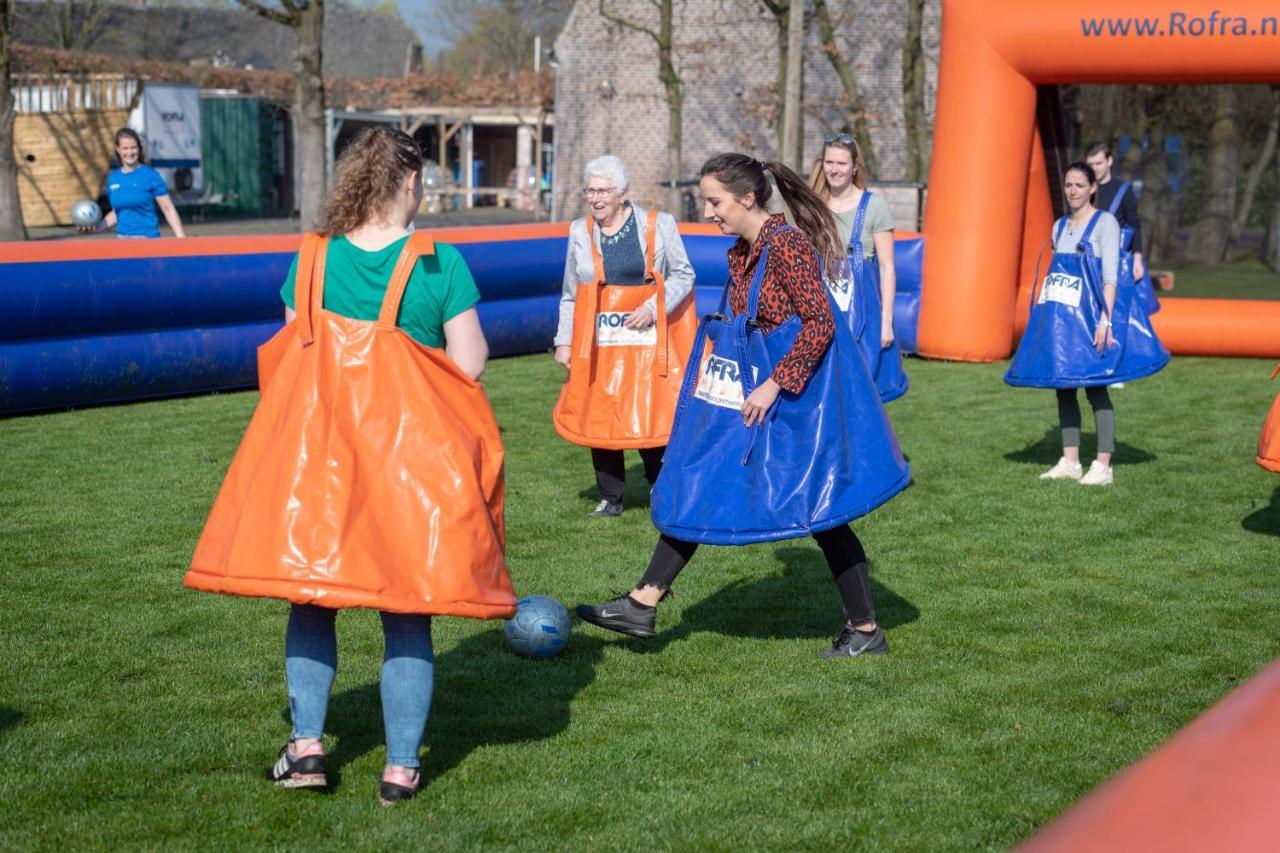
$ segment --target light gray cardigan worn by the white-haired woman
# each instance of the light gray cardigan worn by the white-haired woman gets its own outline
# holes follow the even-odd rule
[[[649,238],[648,215],[649,211],[639,205],[631,206],[631,215],[635,216],[640,246],[644,247]],[[568,251],[564,256],[564,280],[561,288],[561,314],[559,324],[556,328],[556,346],[567,347],[573,343],[573,300],[577,296],[577,286],[582,282],[595,280],[595,268],[591,264],[591,245],[586,236],[586,219],[575,219],[568,227]],[[600,229],[594,229],[595,247],[600,247]],[[658,238],[653,247],[653,265],[663,278],[667,287],[667,314],[675,311],[680,304],[694,289],[694,266],[685,254],[685,243],[676,229],[676,218],[669,213],[658,211]],[[649,297],[645,305],[657,315],[657,296]]]

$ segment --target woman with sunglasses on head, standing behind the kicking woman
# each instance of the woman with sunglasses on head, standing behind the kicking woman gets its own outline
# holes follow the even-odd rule
[[[822,160],[810,186],[836,216],[840,241],[849,247],[849,263],[827,269],[827,286],[867,359],[881,400],[906,393],[902,351],[893,336],[893,219],[888,204],[867,190],[867,165],[851,133],[823,137]]]

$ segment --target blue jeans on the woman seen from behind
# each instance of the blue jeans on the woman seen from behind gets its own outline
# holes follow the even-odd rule
[[[289,712],[294,738],[319,738],[329,710],[329,693],[338,671],[338,611],[315,605],[293,605],[284,635],[284,676],[289,685]],[[380,613],[383,639],[381,695],[387,729],[387,763],[417,767],[426,716],[435,685],[431,652],[431,617]]]

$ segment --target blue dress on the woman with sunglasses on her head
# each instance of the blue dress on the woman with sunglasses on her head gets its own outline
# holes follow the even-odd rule
[[[840,309],[854,341],[867,361],[867,369],[876,379],[876,389],[882,402],[891,402],[906,393],[906,373],[902,370],[902,351],[897,338],[887,347],[879,342],[881,292],[879,263],[876,255],[863,257],[863,224],[872,193],[863,192],[854,215],[854,231],[849,237],[849,268],[840,277],[828,277],[827,287]]]

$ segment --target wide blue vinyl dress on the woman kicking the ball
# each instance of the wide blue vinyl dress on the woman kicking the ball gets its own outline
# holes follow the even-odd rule
[[[763,423],[742,424],[742,401],[800,333],[799,316],[768,334],[755,324],[768,252],[765,245],[746,313],[732,315],[730,282],[719,311],[698,327],[652,498],[654,525],[677,539],[749,544],[820,533],[867,515],[910,482],[846,324],[835,324],[801,393],[783,391]]]

